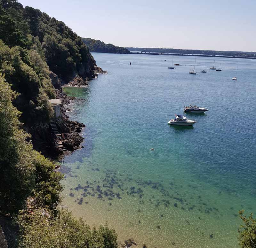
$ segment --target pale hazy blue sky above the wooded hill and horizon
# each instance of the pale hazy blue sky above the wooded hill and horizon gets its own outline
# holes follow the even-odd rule
[[[124,47],[256,51],[256,0],[20,0]]]

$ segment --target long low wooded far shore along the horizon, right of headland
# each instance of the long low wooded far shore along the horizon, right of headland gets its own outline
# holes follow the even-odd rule
[[[154,52],[154,53],[180,53],[180,54],[199,54],[199,55],[221,55],[231,57],[256,57],[256,52],[242,51],[214,51],[214,50],[191,50],[191,49],[175,49],[175,48],[141,48],[126,47],[130,51]]]

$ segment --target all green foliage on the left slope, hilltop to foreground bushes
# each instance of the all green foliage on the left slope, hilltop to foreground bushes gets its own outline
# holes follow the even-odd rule
[[[50,70],[62,81],[91,78],[95,62],[63,22],[16,0],[0,0],[0,212],[19,213],[19,247],[115,248],[116,233],[90,229],[58,211],[63,175],[36,152],[22,129],[53,116]],[[16,244],[16,242],[14,242]]]

